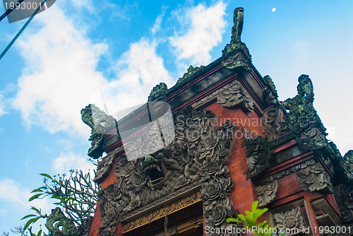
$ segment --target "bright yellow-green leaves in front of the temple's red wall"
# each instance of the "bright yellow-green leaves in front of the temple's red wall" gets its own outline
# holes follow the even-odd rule
[[[256,223],[256,220],[260,216],[263,215],[266,211],[268,211],[268,208],[263,208],[263,209],[258,209],[258,201],[254,201],[252,206],[251,206],[251,211],[245,211],[246,216],[243,214],[238,214],[238,218],[227,218],[227,222],[234,222],[234,223],[243,223],[244,227],[246,229],[251,230],[256,236],[272,236],[273,234],[273,229],[277,228],[270,228],[270,225],[268,225],[267,220],[263,221],[263,223]],[[282,234],[281,236],[284,236]]]

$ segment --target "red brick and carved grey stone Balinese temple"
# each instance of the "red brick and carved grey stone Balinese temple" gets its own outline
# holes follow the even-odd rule
[[[278,100],[241,42],[243,12],[222,57],[156,85],[147,104],[119,121],[95,105],[81,111],[88,155],[100,158],[84,235],[253,235],[226,219],[254,201],[268,208],[258,223],[287,235],[353,235],[353,151],[326,138],[309,76]]]

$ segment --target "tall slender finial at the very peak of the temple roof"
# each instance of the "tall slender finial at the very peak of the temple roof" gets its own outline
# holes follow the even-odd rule
[[[244,8],[234,10],[234,26],[232,28],[232,40],[222,51],[222,65],[227,69],[249,70],[251,64],[251,55],[244,42],[241,42],[240,36],[244,23]]]

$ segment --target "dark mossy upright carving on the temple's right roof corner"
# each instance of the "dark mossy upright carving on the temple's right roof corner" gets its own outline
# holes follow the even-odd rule
[[[289,117],[282,129],[294,131],[297,143],[305,150],[326,146],[326,129],[313,108],[313,83],[309,76],[299,77],[297,90],[298,95],[283,102],[285,109],[289,110]]]

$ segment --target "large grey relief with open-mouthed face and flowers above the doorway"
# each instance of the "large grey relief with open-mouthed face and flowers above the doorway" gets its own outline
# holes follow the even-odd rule
[[[175,138],[166,148],[139,160],[128,161],[124,155],[117,160],[116,182],[100,192],[98,235],[112,235],[129,212],[152,207],[158,199],[200,182],[205,225],[227,226],[233,182],[225,164],[235,127],[228,121],[217,128],[215,115],[205,110],[183,110],[173,116]]]

